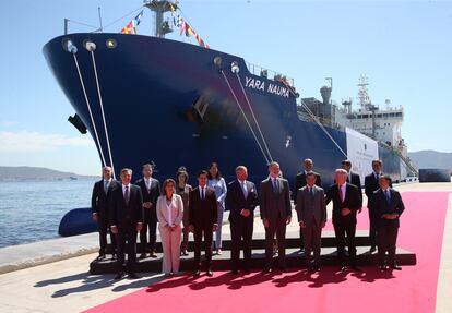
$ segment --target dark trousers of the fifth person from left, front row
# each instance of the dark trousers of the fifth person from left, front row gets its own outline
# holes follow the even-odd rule
[[[273,266],[273,240],[276,234],[277,241],[277,265],[278,267],[286,267],[286,219],[278,218],[276,220],[269,220],[270,226],[265,227],[265,267]]]

